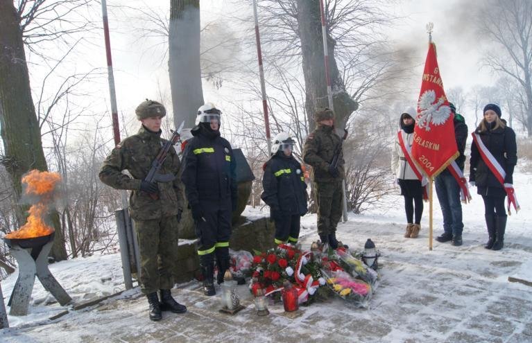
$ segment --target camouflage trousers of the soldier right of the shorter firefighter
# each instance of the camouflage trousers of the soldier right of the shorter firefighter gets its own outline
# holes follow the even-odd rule
[[[315,182],[318,234],[333,234],[342,218],[342,181]]]

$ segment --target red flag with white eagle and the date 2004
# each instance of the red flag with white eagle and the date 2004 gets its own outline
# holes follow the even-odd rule
[[[429,177],[438,175],[458,157],[454,137],[454,114],[443,91],[436,45],[429,44],[418,100],[412,156]]]

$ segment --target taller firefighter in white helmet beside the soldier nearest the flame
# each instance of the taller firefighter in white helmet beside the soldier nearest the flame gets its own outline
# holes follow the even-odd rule
[[[220,136],[220,115],[211,103],[198,109],[194,136],[183,153],[182,182],[198,236],[203,292],[214,295],[214,256],[218,284],[229,269],[231,215],[237,207],[236,164],[231,144]]]

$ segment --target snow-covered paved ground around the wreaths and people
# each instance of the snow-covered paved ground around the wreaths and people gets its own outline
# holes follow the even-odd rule
[[[351,214],[339,225],[338,238],[354,248],[372,238],[382,254],[381,283],[368,310],[334,299],[302,307],[295,319],[284,317],[279,304],[271,306],[271,315],[257,317],[246,286],[241,286],[247,307],[228,316],[218,313],[217,297],[203,296],[192,281],[173,290],[189,312],[164,313],[154,323],[138,288],[73,310],[55,303],[36,280],[30,313],[9,316],[11,327],[0,330],[0,342],[532,342],[532,288],[508,282],[508,276],[532,281],[532,178],[517,168],[514,180],[522,209],[508,218],[505,247],[499,252],[483,248],[483,203],[476,194],[463,205],[461,247],[434,241],[429,251],[428,204],[420,238],[403,238],[399,195],[389,195],[378,209]],[[260,215],[256,209],[246,213]],[[441,222],[435,195],[434,237],[442,231]],[[316,237],[316,216],[305,216],[303,247]],[[50,270],[76,303],[123,290],[119,254],[63,261]],[[1,283],[6,306],[16,278],[15,273]],[[67,315],[49,319],[67,309]]]

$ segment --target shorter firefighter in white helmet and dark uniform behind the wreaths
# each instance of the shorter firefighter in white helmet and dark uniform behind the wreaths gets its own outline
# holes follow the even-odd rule
[[[275,244],[298,243],[300,217],[307,213],[307,184],[293,157],[293,139],[280,132],[273,139],[272,157],[264,164],[261,199],[275,221]]]

